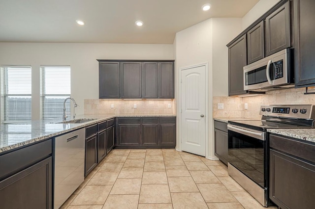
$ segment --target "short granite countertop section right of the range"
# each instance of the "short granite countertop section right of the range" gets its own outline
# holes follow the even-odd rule
[[[270,133],[315,142],[315,129],[267,129]]]

